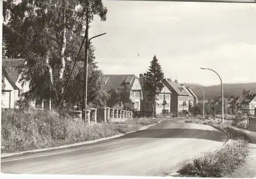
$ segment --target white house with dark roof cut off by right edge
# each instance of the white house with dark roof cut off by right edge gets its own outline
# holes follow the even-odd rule
[[[254,115],[256,110],[256,94],[250,94],[244,98],[241,103],[241,112],[243,115]]]

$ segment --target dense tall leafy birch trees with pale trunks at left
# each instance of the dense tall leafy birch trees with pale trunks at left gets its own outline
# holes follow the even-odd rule
[[[82,0],[4,2],[6,56],[28,60],[21,80],[29,82],[31,98],[48,99],[53,85],[62,92],[67,63],[75,60],[84,34],[86,7]],[[101,0],[90,1],[90,22],[94,15],[106,20],[106,13]],[[84,54],[78,58],[83,62]]]

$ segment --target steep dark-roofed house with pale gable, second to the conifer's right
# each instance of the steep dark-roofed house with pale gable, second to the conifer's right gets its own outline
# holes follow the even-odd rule
[[[172,92],[172,113],[178,114],[188,111],[189,94],[184,90],[184,85],[179,84],[178,80],[172,81],[170,79],[165,80],[164,85]]]

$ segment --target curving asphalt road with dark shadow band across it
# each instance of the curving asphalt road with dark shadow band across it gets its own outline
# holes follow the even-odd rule
[[[165,120],[116,139],[1,160],[3,173],[163,176],[185,159],[220,147],[225,134],[208,125]]]

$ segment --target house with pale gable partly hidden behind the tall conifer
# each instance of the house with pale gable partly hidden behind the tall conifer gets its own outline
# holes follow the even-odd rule
[[[143,75],[140,74],[140,83],[143,86]],[[153,108],[153,100],[151,99],[150,95],[147,91],[143,92],[143,100],[141,100],[141,111],[145,112],[152,112]],[[172,110],[171,105],[172,99],[172,92],[164,85],[163,89],[159,94],[156,95],[156,107],[155,107],[155,114],[168,114]]]

